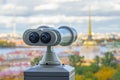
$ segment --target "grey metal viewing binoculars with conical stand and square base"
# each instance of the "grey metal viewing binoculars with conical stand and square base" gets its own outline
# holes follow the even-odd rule
[[[31,46],[47,46],[47,51],[38,65],[24,72],[24,80],[74,80],[74,67],[61,64],[51,46],[67,46],[76,38],[76,30],[67,26],[58,29],[41,26],[26,30],[23,34],[24,42]]]

